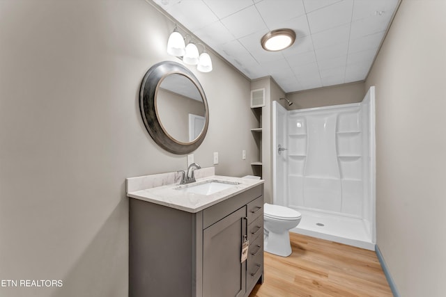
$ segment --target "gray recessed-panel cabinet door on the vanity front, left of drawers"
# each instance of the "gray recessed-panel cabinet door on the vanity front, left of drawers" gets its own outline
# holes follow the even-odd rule
[[[245,235],[246,207],[203,230],[203,296],[245,294],[246,261],[240,263]]]

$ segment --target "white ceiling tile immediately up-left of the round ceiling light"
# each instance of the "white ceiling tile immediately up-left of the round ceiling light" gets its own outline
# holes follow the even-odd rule
[[[242,38],[257,31],[268,32],[263,19],[254,6],[249,6],[243,10],[229,15],[222,19],[222,23],[235,38]]]

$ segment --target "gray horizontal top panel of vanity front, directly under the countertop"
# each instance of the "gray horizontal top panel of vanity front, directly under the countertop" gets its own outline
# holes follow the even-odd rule
[[[234,197],[226,199],[220,203],[208,207],[207,209],[203,209],[203,229],[206,229],[210,225],[213,225],[214,223],[221,220],[225,216],[232,214],[233,211],[239,209],[240,207],[244,207],[246,204],[249,205],[250,204],[249,202],[258,198],[259,196],[263,197],[262,192],[263,192],[263,184],[259,184],[259,186],[255,186],[254,188],[249,188],[249,190],[243,193],[235,195]],[[248,214],[248,222],[249,222],[249,214]]]

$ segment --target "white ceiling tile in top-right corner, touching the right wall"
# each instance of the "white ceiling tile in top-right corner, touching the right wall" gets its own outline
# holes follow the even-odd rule
[[[358,19],[366,17],[373,17],[376,12],[384,12],[383,15],[392,15],[394,9],[397,7],[398,0],[373,0],[373,1],[358,1],[353,4],[353,18],[355,22]]]

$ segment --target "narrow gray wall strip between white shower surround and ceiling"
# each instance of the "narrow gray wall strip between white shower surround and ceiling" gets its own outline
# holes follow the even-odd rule
[[[288,93],[286,98],[293,102],[293,105],[288,106],[287,109],[309,109],[312,107],[361,102],[366,93],[364,92],[364,82],[346,83],[344,85]]]

